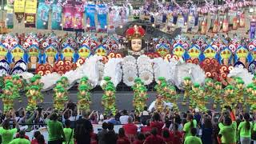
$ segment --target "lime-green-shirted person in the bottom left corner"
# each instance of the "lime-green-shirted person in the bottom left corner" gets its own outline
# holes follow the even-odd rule
[[[14,119],[16,127],[18,127],[17,122]],[[14,139],[14,134],[17,133],[17,128],[10,129],[10,120],[6,119],[2,122],[2,127],[0,127],[0,135],[2,136],[2,144],[9,144]]]

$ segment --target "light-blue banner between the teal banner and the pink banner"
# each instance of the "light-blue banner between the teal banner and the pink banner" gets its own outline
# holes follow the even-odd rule
[[[62,30],[62,6],[54,4],[51,12],[51,29]]]

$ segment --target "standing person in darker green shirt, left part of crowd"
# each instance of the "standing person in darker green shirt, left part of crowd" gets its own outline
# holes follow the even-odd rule
[[[58,122],[58,115],[55,112],[50,114],[48,118],[50,118],[46,120],[49,134],[48,144],[62,144],[66,141],[62,122]]]

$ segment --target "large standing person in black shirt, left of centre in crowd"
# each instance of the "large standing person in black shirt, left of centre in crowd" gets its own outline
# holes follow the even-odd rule
[[[77,144],[90,143],[90,133],[93,130],[93,126],[89,120],[89,113],[82,111],[82,118],[75,122],[74,126],[74,138]]]

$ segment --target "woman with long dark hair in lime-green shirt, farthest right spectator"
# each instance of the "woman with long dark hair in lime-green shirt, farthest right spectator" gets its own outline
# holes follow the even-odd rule
[[[238,134],[240,134],[240,142],[242,144],[250,144],[250,131],[253,128],[252,122],[249,122],[250,114],[244,115],[244,122],[240,122],[238,126]]]

